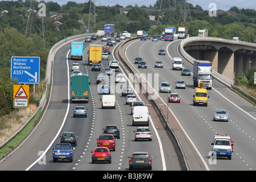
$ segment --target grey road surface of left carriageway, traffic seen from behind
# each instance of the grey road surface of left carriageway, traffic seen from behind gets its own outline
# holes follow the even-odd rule
[[[76,41],[81,42],[84,39],[77,39]],[[101,39],[98,39],[97,41],[93,40],[92,44],[104,45],[106,42],[101,42]],[[121,88],[122,86],[127,86],[127,82],[125,84],[117,84],[117,87],[115,87],[113,82],[110,84],[112,86],[112,94],[115,94],[117,98],[117,107],[116,109],[101,109],[101,95],[98,94],[96,78],[98,74],[102,73],[103,69],[101,69],[101,72],[91,71],[88,65],[88,46],[88,42],[84,43],[83,61],[70,59],[69,50],[71,43],[61,46],[56,51],[53,62],[53,86],[46,112],[31,135],[14,152],[1,161],[0,169],[31,171],[125,171],[129,170],[128,156],[134,151],[147,151],[151,156],[154,156],[152,170],[182,170],[181,166],[183,164],[180,164],[175,154],[175,147],[170,144],[171,141],[168,138],[168,134],[162,127],[157,127],[156,129],[152,120],[150,120],[150,128],[154,131],[152,141],[134,141],[133,131],[137,126],[131,125],[131,107],[125,104],[125,97],[121,97]],[[112,47],[110,49],[113,51]],[[112,54],[113,52],[109,56],[109,60],[102,61],[102,68],[108,67],[109,61],[114,59]],[[80,63],[81,72],[89,73],[90,97],[88,104],[72,103],[69,100],[71,89],[71,71],[69,69],[72,63]],[[114,77],[109,76],[109,78],[111,80]],[[86,118],[73,118],[72,112],[76,105],[84,105],[88,109],[88,116]],[[116,124],[121,129],[121,138],[116,140],[117,146],[112,153],[112,164],[92,164],[91,151],[97,147],[96,139],[102,133],[105,125],[108,124]],[[53,163],[51,148],[60,141],[59,136],[64,131],[74,132],[78,136],[73,162],[69,163],[64,160]],[[160,138],[165,138],[162,139],[162,142],[165,144],[164,149],[161,142],[159,142]],[[163,151],[167,152],[166,156],[164,156]],[[168,156],[170,153],[171,156]],[[167,164],[164,158],[167,158]]]

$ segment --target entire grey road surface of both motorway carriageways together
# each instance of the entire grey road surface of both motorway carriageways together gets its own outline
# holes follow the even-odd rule
[[[77,41],[82,41],[79,39]],[[179,57],[177,46],[180,40],[174,42],[142,42],[135,40],[126,49],[127,60],[133,63],[134,57],[141,56],[147,61],[147,69],[138,69],[143,75],[159,77],[159,83],[168,81],[172,85],[172,92],[178,92],[181,96],[180,104],[170,103],[169,114],[173,113],[180,123],[180,129],[184,130],[187,141],[181,141],[185,150],[194,151],[197,159],[187,153],[187,158],[192,170],[255,170],[256,159],[254,158],[255,145],[255,107],[231,92],[224,85],[213,81],[213,89],[209,90],[208,107],[192,105],[193,84],[192,77],[181,76],[180,71],[172,71],[172,57]],[[97,40],[97,44],[105,44]],[[1,161],[2,170],[97,170],[97,171],[126,171],[129,168],[130,156],[134,151],[148,151],[153,158],[153,167],[158,170],[183,170],[180,156],[176,147],[172,145],[168,131],[159,125],[158,117],[151,112],[150,127],[154,130],[152,142],[135,142],[134,129],[131,126],[130,106],[125,105],[125,98],[118,93],[121,88],[112,88],[117,97],[116,109],[101,109],[100,94],[95,84],[98,72],[92,72],[87,65],[86,52],[89,43],[84,43],[85,56],[81,64],[81,72],[89,73],[90,76],[90,101],[84,104],[88,109],[87,118],[73,118],[72,109],[75,105],[69,101],[71,72],[70,65],[77,61],[70,60],[69,44],[65,44],[57,50],[53,63],[52,92],[47,110],[42,121],[7,158]],[[166,49],[166,56],[159,56],[159,49]],[[113,48],[111,48],[113,50]],[[113,52],[112,52],[113,53]],[[110,55],[110,59],[114,59]],[[162,60],[164,68],[154,68],[156,60]],[[84,64],[82,64],[84,63]],[[103,61],[102,66],[108,67],[109,61]],[[134,65],[134,63],[133,63]],[[137,65],[134,65],[137,68]],[[192,69],[192,65],[184,62],[184,67]],[[178,79],[187,82],[186,89],[175,89],[175,81]],[[151,83],[152,88],[158,85]],[[119,91],[118,91],[119,89]],[[167,94],[157,93],[163,101]],[[142,99],[143,95],[138,93]],[[150,104],[146,102],[150,107]],[[167,104],[167,103],[166,103]],[[213,122],[213,112],[216,109],[226,109],[229,112],[229,122]],[[157,122],[158,121],[158,122]],[[91,164],[91,152],[96,147],[96,138],[102,133],[102,128],[107,124],[117,124],[121,128],[121,139],[117,140],[117,148],[112,154],[112,164]],[[179,129],[179,130],[180,130]],[[79,136],[75,149],[73,163],[52,162],[51,147],[59,142],[59,135],[64,131],[73,131]],[[179,132],[179,131],[177,131]],[[234,140],[234,152],[232,160],[217,158],[210,160],[210,143],[214,134],[229,134]],[[185,138],[184,137],[184,138]],[[185,143],[192,143],[191,148],[186,148]],[[190,145],[189,145],[190,146]],[[39,156],[41,155],[41,158]],[[20,157],[22,156],[22,157]],[[18,165],[17,165],[18,164]]]

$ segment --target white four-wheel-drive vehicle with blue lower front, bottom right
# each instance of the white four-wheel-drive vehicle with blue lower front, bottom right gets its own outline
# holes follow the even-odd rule
[[[233,142],[228,135],[214,135],[212,145],[212,156],[224,156],[229,160],[232,158]]]

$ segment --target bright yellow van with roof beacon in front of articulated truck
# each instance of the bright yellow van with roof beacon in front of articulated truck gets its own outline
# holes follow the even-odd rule
[[[200,82],[200,87],[195,88],[195,92],[193,94],[193,105],[207,106],[208,98],[207,89],[203,87],[203,82]]]

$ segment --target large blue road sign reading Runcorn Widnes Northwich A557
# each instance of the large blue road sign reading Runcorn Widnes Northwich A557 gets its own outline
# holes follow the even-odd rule
[[[11,78],[20,84],[39,84],[40,57],[11,57]]]

